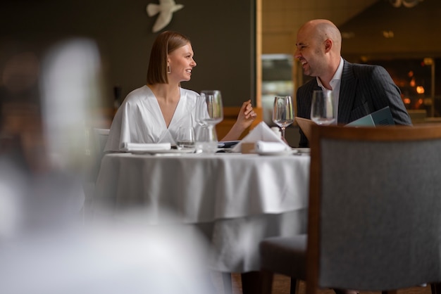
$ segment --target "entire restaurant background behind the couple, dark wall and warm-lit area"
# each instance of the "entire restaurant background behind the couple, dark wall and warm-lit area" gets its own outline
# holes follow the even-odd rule
[[[189,36],[198,63],[182,87],[220,89],[227,107],[251,98],[271,124],[273,96],[295,96],[309,78],[292,58],[297,30],[312,18],[328,18],[342,31],[342,56],[385,66],[414,122],[436,121],[441,115],[438,0],[175,1],[184,8],[173,13],[164,30]],[[411,2],[416,5],[406,7]],[[156,16],[147,15],[149,3],[158,1],[1,1],[0,66],[17,48],[42,58],[61,39],[94,39],[104,72],[101,108],[111,120],[114,99],[145,81],[150,47],[159,34],[151,32]],[[295,125],[287,129],[292,146],[297,146],[297,133]]]

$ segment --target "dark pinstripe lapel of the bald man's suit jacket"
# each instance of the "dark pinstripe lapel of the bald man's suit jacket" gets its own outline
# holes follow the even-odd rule
[[[351,115],[352,106],[354,105],[357,83],[358,81],[354,77],[354,72],[352,71],[352,63],[348,63],[344,60],[342,81],[340,84],[340,97],[338,100],[337,122],[339,123],[349,122],[349,116]]]

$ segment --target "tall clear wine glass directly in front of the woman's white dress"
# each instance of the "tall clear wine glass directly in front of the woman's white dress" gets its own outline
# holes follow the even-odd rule
[[[205,103],[197,103],[196,121],[200,124],[197,131],[197,152],[213,153],[218,146],[216,124],[223,120],[221,91],[201,91]]]

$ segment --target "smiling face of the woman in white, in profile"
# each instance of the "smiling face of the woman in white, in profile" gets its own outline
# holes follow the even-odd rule
[[[168,54],[168,65],[170,73],[168,79],[176,82],[190,81],[192,69],[196,66],[193,59],[193,49],[190,43],[176,49]]]

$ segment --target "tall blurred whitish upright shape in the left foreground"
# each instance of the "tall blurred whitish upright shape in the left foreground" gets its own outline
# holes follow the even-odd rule
[[[42,115],[49,153],[60,167],[85,162],[85,128],[101,102],[101,60],[89,39],[71,39],[49,51],[42,72]]]

